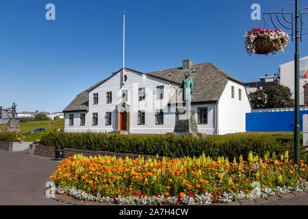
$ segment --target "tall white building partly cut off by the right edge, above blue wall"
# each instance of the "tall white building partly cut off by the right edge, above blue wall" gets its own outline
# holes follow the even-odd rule
[[[280,83],[283,86],[290,88],[292,96],[294,98],[294,61],[281,64],[279,70],[281,73]],[[305,71],[308,73],[308,56],[300,59],[300,81],[299,81],[299,104],[305,105],[304,103],[304,88],[303,86],[308,83],[308,77],[304,75]]]

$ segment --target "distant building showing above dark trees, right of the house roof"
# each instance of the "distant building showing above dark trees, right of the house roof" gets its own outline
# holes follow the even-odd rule
[[[280,77],[278,74],[272,76],[266,75],[265,77],[260,77],[260,81],[246,83],[247,94],[251,92],[256,92],[257,90],[266,90],[274,86],[279,85]]]

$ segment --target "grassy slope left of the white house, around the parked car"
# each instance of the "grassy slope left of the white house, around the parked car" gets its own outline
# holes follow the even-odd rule
[[[40,133],[29,133],[29,131],[33,129],[39,129],[44,128],[47,129],[47,132],[49,131],[49,124],[50,125],[50,131],[57,131],[58,127],[60,129],[64,129],[64,118],[58,119],[58,120],[45,120],[45,121],[33,121],[28,123],[19,123],[19,127],[21,129],[21,133],[25,138],[23,138],[23,142],[34,142],[36,139],[40,139],[41,136],[44,134],[44,132]],[[6,124],[0,124],[0,130],[5,129]]]

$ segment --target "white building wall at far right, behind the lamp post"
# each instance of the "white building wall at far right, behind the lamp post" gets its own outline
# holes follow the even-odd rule
[[[307,60],[308,56],[301,58],[300,60]],[[280,84],[290,88],[292,97],[294,98],[294,61],[281,64],[280,66]],[[300,105],[304,105],[304,88],[303,86],[308,83],[308,79],[300,79],[299,81],[299,101]]]

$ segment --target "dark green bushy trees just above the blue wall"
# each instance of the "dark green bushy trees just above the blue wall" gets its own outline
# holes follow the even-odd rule
[[[253,109],[294,107],[294,99],[287,86],[279,85],[266,90],[257,90],[248,97]]]

